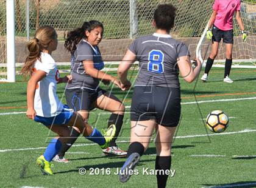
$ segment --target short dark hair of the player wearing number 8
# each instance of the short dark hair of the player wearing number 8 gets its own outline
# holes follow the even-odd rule
[[[172,4],[160,4],[154,13],[154,20],[157,29],[165,29],[168,32],[174,26],[176,7]]]

